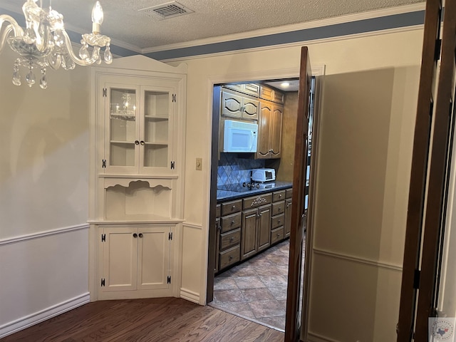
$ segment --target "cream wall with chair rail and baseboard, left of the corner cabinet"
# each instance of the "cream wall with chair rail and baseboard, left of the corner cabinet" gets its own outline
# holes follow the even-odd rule
[[[90,70],[11,83],[0,55],[0,338],[88,301]],[[37,82],[39,71],[36,71]]]

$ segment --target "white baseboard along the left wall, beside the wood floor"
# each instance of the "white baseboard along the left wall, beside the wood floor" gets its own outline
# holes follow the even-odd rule
[[[68,299],[68,301],[63,301],[60,304],[50,306],[47,309],[43,309],[34,314],[19,318],[16,321],[6,323],[3,326],[0,326],[0,338],[4,338],[5,336],[11,335],[11,333],[16,333],[18,331],[24,330],[29,326],[33,326],[37,323],[41,323],[42,321],[46,321],[46,319],[58,316],[66,311],[76,309],[78,306],[87,304],[89,301],[90,294],[87,292],[86,294],[81,294],[81,296]]]

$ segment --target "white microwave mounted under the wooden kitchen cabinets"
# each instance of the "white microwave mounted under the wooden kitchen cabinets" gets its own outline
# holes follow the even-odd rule
[[[223,152],[257,152],[258,125],[225,120]]]

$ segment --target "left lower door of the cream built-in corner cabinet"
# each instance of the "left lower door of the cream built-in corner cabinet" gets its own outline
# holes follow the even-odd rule
[[[103,229],[100,229],[103,231]],[[136,234],[136,237],[135,237]],[[136,289],[138,229],[105,227],[101,238],[103,273],[101,291]]]

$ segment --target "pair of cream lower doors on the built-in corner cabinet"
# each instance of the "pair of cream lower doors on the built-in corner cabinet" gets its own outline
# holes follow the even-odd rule
[[[98,232],[101,299],[172,295],[172,226],[99,227]]]

